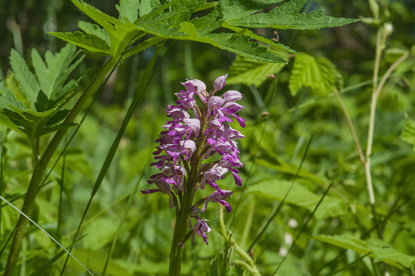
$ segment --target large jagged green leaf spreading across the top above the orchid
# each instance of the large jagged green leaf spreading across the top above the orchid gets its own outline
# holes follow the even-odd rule
[[[120,5],[116,6],[120,12],[120,19],[106,15],[83,0],[71,1],[103,29],[95,24],[81,22],[78,26],[85,31],[85,34],[81,32],[51,34],[82,47],[86,52],[108,56],[120,55],[129,42],[134,42],[144,32],[154,34],[155,37],[152,38],[154,43],[157,37],[197,41],[256,61],[286,63],[284,58],[267,51],[266,47],[251,39],[290,53],[297,53],[296,51],[244,28],[318,29],[356,21],[355,19],[323,17],[322,10],[298,14],[306,0],[291,0],[266,14],[254,13],[275,5],[281,0],[220,0],[213,3],[207,3],[205,0],[142,0],[140,2],[120,0]],[[193,12],[208,7],[214,7],[209,15],[196,17],[188,22]],[[233,32],[212,33],[219,27],[225,27]]]

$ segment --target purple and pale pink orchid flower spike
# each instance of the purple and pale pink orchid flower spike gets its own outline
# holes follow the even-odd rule
[[[154,174],[147,181],[155,184],[157,189],[141,191],[143,194],[162,192],[169,196],[170,208],[178,209],[178,201],[182,205],[183,194],[191,193],[190,203],[193,201],[194,192],[197,189],[205,189],[206,183],[215,189],[209,196],[201,199],[196,204],[188,208],[186,216],[189,218],[188,225],[192,228],[191,218],[197,220],[192,230],[189,231],[187,238],[191,235],[191,242],[194,245],[195,234],[197,233],[207,242],[206,233],[210,232],[206,219],[200,219],[198,214],[204,213],[207,203],[212,201],[219,202],[225,206],[228,213],[231,206],[226,200],[232,195],[232,191],[222,190],[216,184],[216,180],[223,179],[224,175],[230,171],[235,179],[235,184],[242,185],[242,180],[238,176],[238,169],[243,164],[239,160],[237,143],[238,138],[245,137],[239,131],[233,129],[227,122],[233,122],[231,117],[236,119],[240,126],[245,127],[245,120],[238,116],[238,112],[243,108],[236,102],[244,98],[243,94],[235,90],[229,90],[222,96],[215,96],[215,93],[225,86],[227,74],[218,77],[213,83],[213,89],[206,91],[206,85],[200,80],[188,80],[181,82],[186,91],[175,93],[178,97],[176,105],[169,105],[167,117],[171,121],[166,121],[163,126],[165,131],[161,131],[159,139],[160,145],[153,153],[156,162],[150,166],[156,166],[160,173]],[[196,104],[195,95],[200,97],[203,103],[203,110]],[[188,110],[194,111],[195,119],[190,118]],[[164,154],[160,155],[162,152]],[[206,162],[203,160],[219,153],[220,160]],[[200,210],[198,206],[202,205]],[[182,210],[180,209],[180,212]],[[186,218],[187,219],[187,218]],[[190,234],[190,235],[189,235]],[[185,241],[185,240],[184,240]],[[181,243],[184,245],[184,241]]]

